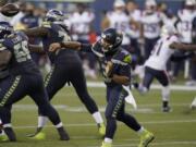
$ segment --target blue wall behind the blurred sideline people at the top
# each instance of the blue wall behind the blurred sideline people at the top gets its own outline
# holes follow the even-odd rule
[[[16,0],[12,0],[16,1]],[[81,2],[89,5],[89,8],[95,12],[96,19],[94,22],[94,28],[96,32],[100,32],[100,22],[102,12],[112,10],[114,0],[25,0],[27,2],[33,2],[35,5],[44,7],[47,9],[58,8],[60,10],[69,10],[69,7],[72,8],[73,3]],[[144,0],[135,0],[139,9],[144,8]],[[157,2],[167,3],[168,8],[171,9],[174,13],[183,7],[183,0],[157,0]]]

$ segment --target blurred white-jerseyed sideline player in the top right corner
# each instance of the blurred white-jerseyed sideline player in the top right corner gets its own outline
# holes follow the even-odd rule
[[[177,12],[177,30],[181,35],[181,41],[184,44],[192,44],[193,42],[193,32],[194,27],[196,27],[196,11],[195,11],[196,2],[195,0],[185,0],[184,8],[179,10]],[[184,51],[179,51],[179,54],[183,54]],[[173,70],[173,79],[175,79],[179,75],[180,70],[182,69],[184,62],[176,62],[174,64]],[[187,85],[195,85],[196,84],[196,65],[195,62],[191,62],[192,69],[189,70],[189,61],[185,62],[185,77],[187,77],[191,73],[192,79],[187,82]]]

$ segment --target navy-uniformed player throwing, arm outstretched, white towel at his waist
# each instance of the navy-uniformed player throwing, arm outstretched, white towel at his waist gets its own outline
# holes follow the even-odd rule
[[[117,120],[125,123],[140,136],[138,147],[147,147],[154,139],[154,134],[145,130],[136,119],[125,113],[124,98],[127,93],[123,86],[130,85],[131,76],[131,54],[121,48],[122,34],[114,28],[108,28],[101,34],[100,40],[94,46],[81,42],[57,42],[50,46],[54,51],[61,48],[72,48],[75,50],[94,52],[100,63],[101,73],[107,85],[107,131],[101,147],[111,147],[117,130]]]

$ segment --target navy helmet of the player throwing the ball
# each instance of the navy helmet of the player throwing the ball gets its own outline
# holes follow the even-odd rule
[[[103,52],[113,52],[121,46],[123,39],[122,33],[115,28],[108,28],[101,34],[101,46]]]

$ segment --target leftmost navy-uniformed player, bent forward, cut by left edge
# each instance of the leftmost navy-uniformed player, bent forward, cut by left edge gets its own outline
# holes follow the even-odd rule
[[[29,56],[26,35],[13,32],[7,22],[0,22],[0,68],[4,69],[0,71],[0,118],[9,139],[16,140],[11,124],[12,105],[28,95],[56,125],[60,139],[69,140],[58,112],[49,103],[42,76]]]

